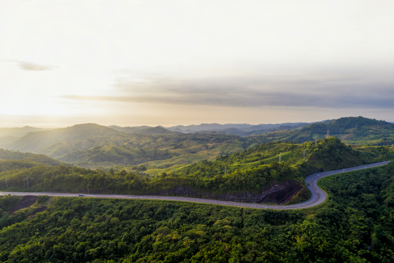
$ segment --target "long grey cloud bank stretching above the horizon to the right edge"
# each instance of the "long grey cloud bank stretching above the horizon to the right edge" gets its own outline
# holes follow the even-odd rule
[[[392,79],[365,74],[194,80],[119,78],[114,87],[115,92],[109,96],[62,97],[77,101],[226,107],[394,108]]]

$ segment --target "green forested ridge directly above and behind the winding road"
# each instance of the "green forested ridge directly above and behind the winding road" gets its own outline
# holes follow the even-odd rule
[[[303,162],[305,151],[305,162]],[[282,153],[279,163],[278,154]],[[29,157],[30,158],[30,157]],[[48,166],[35,163],[0,161],[0,190],[50,191],[67,193],[119,193],[157,194],[163,190],[184,186],[204,193],[262,191],[272,182],[296,180],[304,183],[309,174],[333,169],[347,168],[394,158],[388,147],[346,146],[337,138],[295,144],[292,142],[270,142],[249,148],[240,153],[224,155],[215,161],[201,161],[181,166],[178,169],[161,169],[157,175],[151,170],[136,172],[103,169],[84,169],[65,165]],[[21,165],[21,164],[20,164]],[[9,167],[9,168],[8,168]],[[145,167],[143,167],[145,168]],[[142,171],[145,170],[145,171]],[[27,189],[27,176],[29,189]],[[6,184],[6,180],[8,184]],[[8,187],[8,188],[7,188]]]

